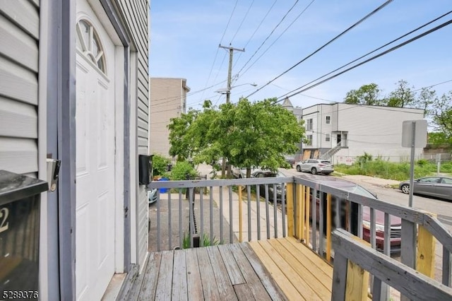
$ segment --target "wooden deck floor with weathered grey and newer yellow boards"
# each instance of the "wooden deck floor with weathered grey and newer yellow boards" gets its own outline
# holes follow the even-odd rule
[[[333,267],[292,237],[155,252],[126,300],[331,300]]]

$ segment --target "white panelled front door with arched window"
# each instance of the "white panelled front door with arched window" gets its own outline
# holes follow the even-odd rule
[[[114,274],[114,44],[78,1],[76,298],[100,300]]]

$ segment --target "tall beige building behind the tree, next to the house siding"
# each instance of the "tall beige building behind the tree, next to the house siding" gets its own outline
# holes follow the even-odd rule
[[[186,93],[190,88],[185,78],[150,78],[149,81],[149,127],[152,142],[150,153],[169,157],[170,120],[180,117],[186,110]]]

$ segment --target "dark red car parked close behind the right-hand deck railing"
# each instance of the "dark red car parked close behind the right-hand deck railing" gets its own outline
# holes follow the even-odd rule
[[[372,194],[370,191],[365,189],[358,184],[345,181],[343,179],[338,179],[335,177],[319,177],[314,175],[304,175],[303,177],[309,178],[318,182],[321,185],[326,185],[329,187],[334,187],[337,189],[341,189],[344,191],[352,192],[354,194],[359,194],[362,196],[367,196],[371,199],[376,199],[376,195]],[[311,189],[312,191],[312,189]],[[311,192],[312,194],[312,192]],[[340,225],[336,225],[336,202],[340,201],[340,218],[338,218]],[[319,203],[320,203],[320,194],[317,193],[316,196],[316,218],[319,220]],[[332,220],[332,230],[334,228],[347,228],[347,212],[351,210],[351,224],[349,227],[350,232],[352,234],[357,235],[357,225],[358,225],[358,204],[351,203],[351,208],[347,208],[347,201],[345,199],[339,199],[338,197],[332,195],[331,196],[331,220]],[[326,232],[326,193],[323,194],[323,231]],[[376,223],[375,223],[375,237],[376,237],[376,248],[379,250],[383,250],[384,245],[384,213],[381,211],[375,211]],[[400,242],[401,242],[401,234],[402,234],[402,221],[397,216],[391,216],[391,252],[400,252]],[[362,237],[367,242],[370,242],[370,208],[367,206],[363,207],[362,210]]]

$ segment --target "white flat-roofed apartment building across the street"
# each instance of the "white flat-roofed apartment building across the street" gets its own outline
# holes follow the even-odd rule
[[[424,119],[424,110],[334,103],[304,108],[302,118],[309,140],[302,144],[304,159],[328,157],[333,164],[352,164],[369,153],[400,162],[410,160],[410,148],[402,147],[402,124]],[[416,148],[415,157],[422,151]]]

